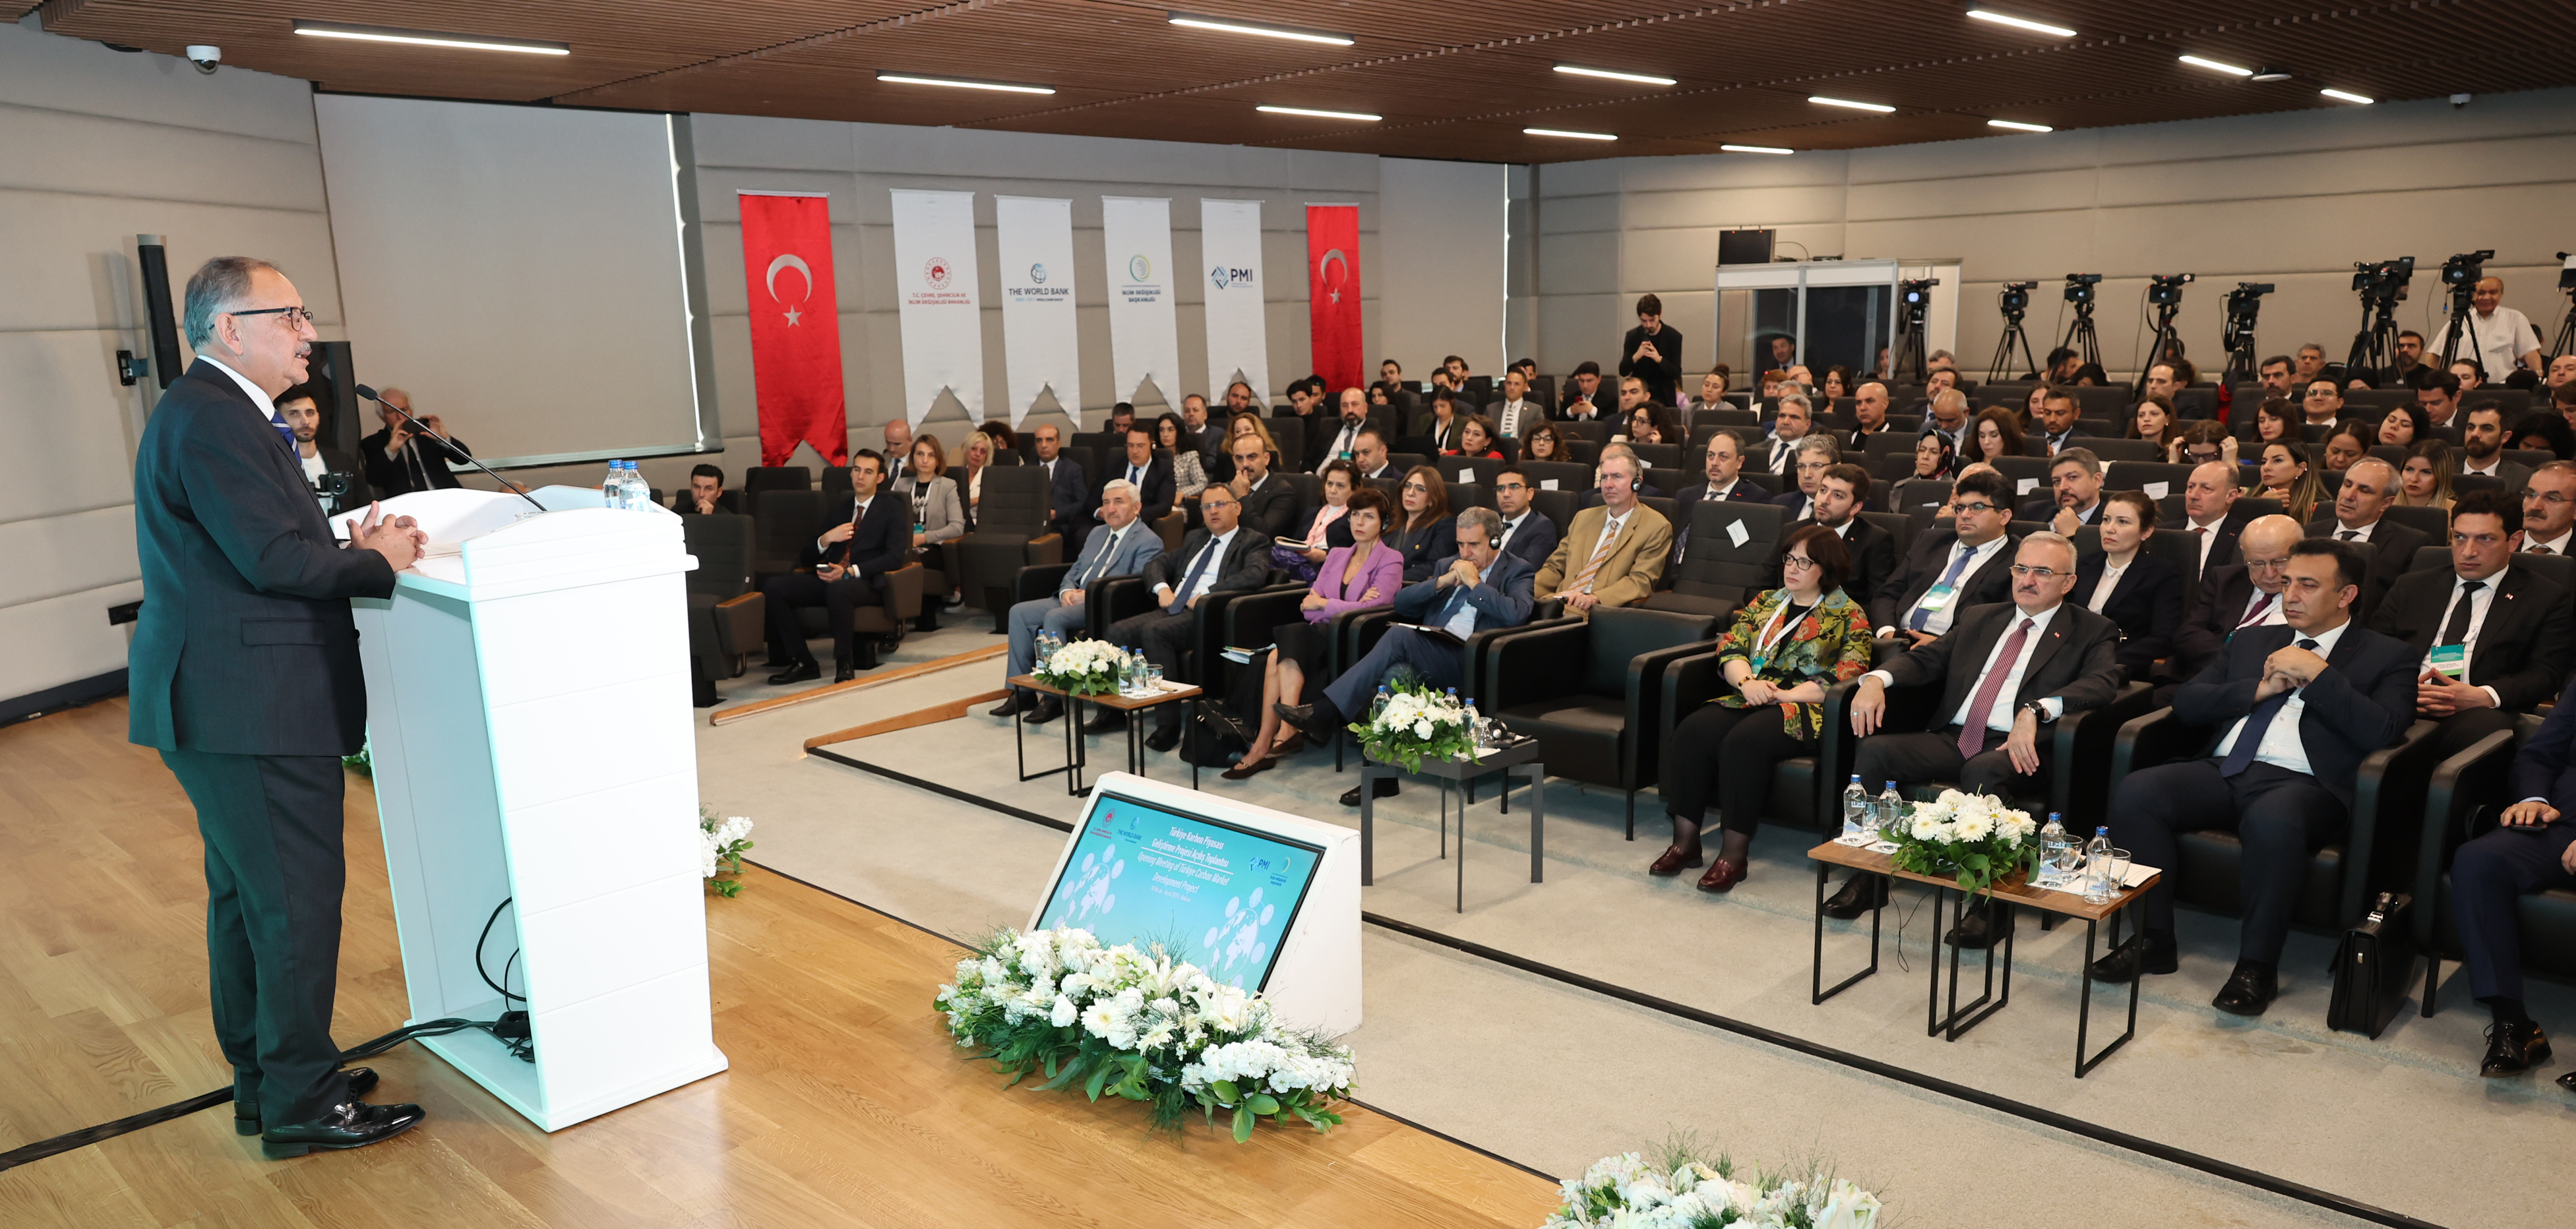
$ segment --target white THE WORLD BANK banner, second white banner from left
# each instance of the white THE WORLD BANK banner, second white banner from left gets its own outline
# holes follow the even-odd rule
[[[1074,332],[1074,204],[992,198],[1002,252],[1002,358],[1010,425],[1048,389],[1082,423],[1082,348]]]

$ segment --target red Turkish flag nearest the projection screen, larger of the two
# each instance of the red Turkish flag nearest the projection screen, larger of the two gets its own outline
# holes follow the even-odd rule
[[[850,415],[840,389],[832,201],[778,193],[739,193],[737,201],[742,201],[742,281],[752,301],[760,464],[788,464],[804,441],[835,466],[845,466]]]

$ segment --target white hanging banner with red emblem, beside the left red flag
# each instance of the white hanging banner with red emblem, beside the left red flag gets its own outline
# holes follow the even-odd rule
[[[894,307],[904,327],[904,417],[956,394],[984,420],[984,304],[974,271],[974,193],[894,188]]]

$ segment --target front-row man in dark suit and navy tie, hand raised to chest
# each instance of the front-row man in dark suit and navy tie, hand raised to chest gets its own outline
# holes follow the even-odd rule
[[[2094,961],[2102,982],[2172,974],[2177,832],[2233,830],[2239,866],[2236,969],[2213,1007],[2262,1015],[2280,992],[2280,948],[2316,850],[2352,824],[2362,757],[2414,721],[2414,662],[2406,644],[2354,626],[2370,564],[2344,541],[2290,549],[2280,605],[2287,626],[2228,639],[2208,670],[2174,691],[2174,716],[2208,727],[2197,760],[2146,768],[2110,799],[2110,840],[2138,866],[2164,868],[2146,894],[2143,930]]]

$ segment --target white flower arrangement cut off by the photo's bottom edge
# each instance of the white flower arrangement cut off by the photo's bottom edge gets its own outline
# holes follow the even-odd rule
[[[1878,1196],[1857,1183],[1808,1167],[1803,1172],[1739,1172],[1718,1157],[1705,1162],[1687,1147],[1667,1149],[1662,1167],[1620,1152],[1602,1157],[1582,1177],[1564,1180],[1564,1206],[1540,1229],[1873,1229]]]

